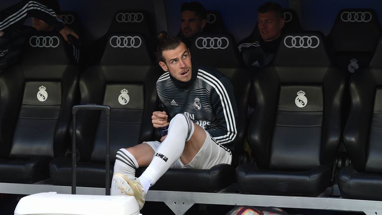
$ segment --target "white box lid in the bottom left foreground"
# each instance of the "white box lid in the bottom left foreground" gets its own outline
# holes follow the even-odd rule
[[[23,197],[14,215],[140,215],[131,196],[39,193]]]

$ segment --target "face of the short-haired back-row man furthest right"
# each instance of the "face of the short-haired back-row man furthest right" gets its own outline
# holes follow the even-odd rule
[[[258,13],[257,18],[260,35],[264,41],[272,41],[280,37],[285,23],[284,18],[280,19],[275,11]]]

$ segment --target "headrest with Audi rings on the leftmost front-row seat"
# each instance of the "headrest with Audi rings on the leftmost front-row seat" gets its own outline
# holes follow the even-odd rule
[[[73,64],[70,46],[56,31],[35,32],[26,40],[20,63],[24,65]]]

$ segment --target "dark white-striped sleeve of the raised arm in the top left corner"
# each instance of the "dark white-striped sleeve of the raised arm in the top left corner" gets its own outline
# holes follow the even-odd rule
[[[23,25],[28,17],[44,20],[57,31],[65,26],[52,9],[41,4],[39,0],[22,0],[0,11],[0,31],[14,32]]]

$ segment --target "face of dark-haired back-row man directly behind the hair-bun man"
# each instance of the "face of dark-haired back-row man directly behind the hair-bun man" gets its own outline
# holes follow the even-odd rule
[[[181,29],[187,39],[191,39],[195,34],[200,33],[205,25],[205,20],[200,20],[194,11],[185,10],[182,12]]]

